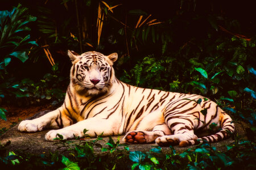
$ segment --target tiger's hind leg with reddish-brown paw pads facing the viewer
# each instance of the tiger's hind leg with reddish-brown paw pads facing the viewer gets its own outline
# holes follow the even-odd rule
[[[152,131],[130,131],[126,133],[125,137],[123,137],[123,141],[128,144],[152,143],[155,142],[156,138],[169,134],[171,134],[170,129],[165,123],[163,123],[156,125]]]

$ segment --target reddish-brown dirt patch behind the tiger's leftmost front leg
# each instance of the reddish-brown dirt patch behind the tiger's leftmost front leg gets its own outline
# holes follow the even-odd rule
[[[1,106],[7,110],[6,117],[7,121],[0,119],[0,129],[11,128],[14,124],[33,116],[35,113],[55,109],[51,104],[40,105],[40,106],[27,106],[27,107],[18,107],[18,106]]]

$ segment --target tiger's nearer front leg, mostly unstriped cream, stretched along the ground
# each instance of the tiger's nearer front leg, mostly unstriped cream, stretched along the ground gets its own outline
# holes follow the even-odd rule
[[[115,122],[117,121],[92,117],[63,129],[50,130],[45,138],[47,141],[53,141],[57,137],[57,134],[63,135],[63,139],[72,139],[74,135],[76,137],[82,137],[84,135],[84,129],[88,130],[86,134],[90,137],[97,137],[101,133],[103,133],[102,136],[118,135],[118,128]]]

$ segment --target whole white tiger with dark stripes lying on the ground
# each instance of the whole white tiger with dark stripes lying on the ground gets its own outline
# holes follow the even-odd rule
[[[113,69],[117,53],[79,55],[68,50],[68,56],[72,67],[63,105],[20,122],[19,131],[52,129],[45,139],[53,141],[59,134],[63,139],[82,137],[87,129],[90,137],[124,135],[122,141],[127,144],[180,147],[218,142],[234,133],[232,118],[206,97],[140,88],[118,80]]]

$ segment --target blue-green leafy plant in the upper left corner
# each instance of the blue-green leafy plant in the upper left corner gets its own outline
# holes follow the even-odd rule
[[[0,69],[5,70],[11,62],[11,56],[25,62],[28,59],[28,53],[31,45],[38,45],[36,41],[30,41],[31,29],[28,23],[36,20],[35,16],[28,14],[28,9],[20,4],[14,7],[12,11],[0,11]],[[3,79],[3,73],[0,74]]]

